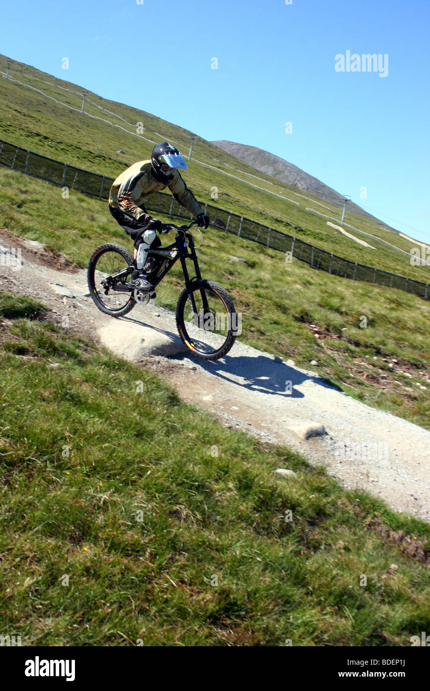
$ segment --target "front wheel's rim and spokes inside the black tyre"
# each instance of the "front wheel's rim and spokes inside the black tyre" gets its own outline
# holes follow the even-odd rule
[[[209,311],[204,312],[202,292],[206,294]],[[235,328],[235,314],[232,315],[222,296],[213,288],[193,290],[197,312],[193,313],[187,300],[184,303],[182,325],[184,341],[190,350],[211,355],[221,350]]]

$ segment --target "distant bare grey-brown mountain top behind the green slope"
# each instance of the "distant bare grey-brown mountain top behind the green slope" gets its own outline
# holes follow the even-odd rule
[[[297,189],[300,189],[302,192],[311,194],[324,202],[330,202],[334,207],[342,209],[344,205],[344,197],[342,194],[336,192],[334,189],[324,184],[324,182],[321,182],[321,180],[314,178],[309,175],[309,173],[305,173],[293,163],[289,163],[284,158],[280,158],[280,156],[274,153],[269,153],[268,151],[264,151],[264,149],[258,149],[257,146],[237,144],[237,142],[228,142],[226,140],[212,142],[212,144],[219,146],[220,149],[227,153],[231,153],[235,158],[248,163],[257,171],[260,171],[260,173],[266,173],[268,176],[282,180],[282,182],[292,187],[297,187]],[[367,220],[373,221],[373,223],[379,223],[379,225],[390,229],[389,225],[375,218],[375,216],[372,216],[367,211],[364,211],[364,209],[353,202],[348,203],[348,211],[349,215],[357,214]],[[397,233],[397,231],[395,232]]]

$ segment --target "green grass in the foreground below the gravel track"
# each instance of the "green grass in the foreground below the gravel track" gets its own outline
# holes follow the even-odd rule
[[[14,300],[0,295],[1,309]],[[3,634],[388,646],[429,629],[429,569],[380,534],[428,553],[427,524],[223,428],[52,323],[17,319],[0,335]]]

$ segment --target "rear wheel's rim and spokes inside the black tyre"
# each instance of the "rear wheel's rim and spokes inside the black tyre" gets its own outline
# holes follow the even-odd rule
[[[110,312],[118,312],[123,310],[130,302],[131,294],[128,292],[119,292],[115,287],[108,287],[108,294],[105,293],[105,287],[102,281],[106,281],[108,276],[112,276],[128,267],[128,261],[115,249],[107,249],[101,251],[95,258],[95,263],[92,268],[92,290],[97,300],[106,307]],[[130,274],[126,278],[121,278],[118,281],[121,285],[130,283]]]

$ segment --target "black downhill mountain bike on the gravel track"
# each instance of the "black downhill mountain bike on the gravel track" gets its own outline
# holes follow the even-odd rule
[[[148,281],[157,287],[179,259],[185,287],[176,305],[176,325],[186,347],[205,360],[217,360],[231,349],[237,336],[237,314],[231,297],[217,283],[202,278],[196,247],[190,228],[195,225],[165,224],[160,233],[176,229],[175,242],[148,251]],[[149,261],[152,258],[155,261]],[[190,278],[186,260],[194,263],[195,276]],[[105,314],[124,316],[136,303],[146,305],[150,294],[130,285],[136,266],[125,247],[107,243],[97,247],[88,263],[88,287],[93,301]]]

